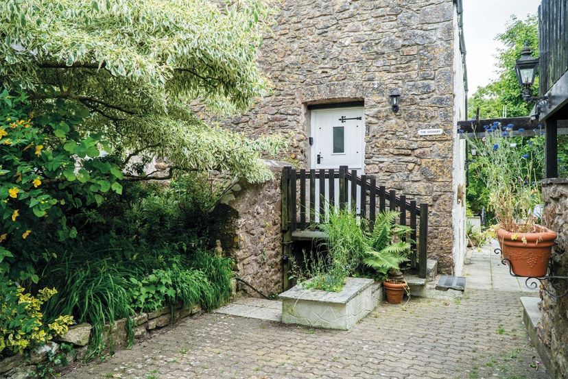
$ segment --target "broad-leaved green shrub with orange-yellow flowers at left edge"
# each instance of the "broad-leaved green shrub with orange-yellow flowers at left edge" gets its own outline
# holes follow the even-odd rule
[[[88,110],[62,101],[47,108],[32,119],[25,94],[0,93],[0,272],[18,281],[38,282],[32,262],[43,259],[26,242],[40,232],[74,239],[66,214],[122,188],[118,166],[99,157],[108,142],[77,130]]]

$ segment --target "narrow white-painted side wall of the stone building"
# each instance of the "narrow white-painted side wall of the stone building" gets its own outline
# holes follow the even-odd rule
[[[467,117],[465,109],[466,93],[464,88],[464,68],[460,52],[460,34],[458,28],[458,10],[454,3],[453,12],[453,206],[451,221],[453,225],[453,273],[462,274],[466,252],[465,236],[465,140],[460,139],[455,125]],[[458,204],[458,192],[464,191],[464,200]]]

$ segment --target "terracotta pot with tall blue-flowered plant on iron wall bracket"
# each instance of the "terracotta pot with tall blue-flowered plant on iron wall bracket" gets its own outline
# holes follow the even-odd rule
[[[485,125],[484,138],[469,138],[477,150],[475,159],[489,191],[488,206],[497,221],[489,233],[497,236],[501,254],[515,275],[545,276],[556,233],[541,225],[535,211],[541,204],[538,179],[542,177],[543,139],[524,140],[514,136],[512,127]]]

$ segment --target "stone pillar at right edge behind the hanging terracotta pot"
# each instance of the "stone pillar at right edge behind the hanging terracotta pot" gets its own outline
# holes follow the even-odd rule
[[[545,225],[558,233],[552,251],[555,276],[568,276],[568,179],[543,182]],[[549,291],[554,289],[547,286]],[[566,286],[563,287],[566,290]],[[554,299],[543,292],[539,339],[549,350],[549,360],[556,378],[568,377],[568,297]]]

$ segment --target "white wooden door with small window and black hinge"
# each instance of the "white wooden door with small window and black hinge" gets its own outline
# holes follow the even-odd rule
[[[347,166],[349,171],[357,170],[357,175],[364,173],[365,150],[365,114],[363,107],[329,108],[311,110],[311,169],[335,169]],[[335,204],[339,204],[339,179],[335,180]],[[319,193],[319,181],[316,180],[316,193]],[[329,202],[329,188],[324,188],[326,202]],[[351,182],[347,185],[348,204],[361,196],[361,187],[357,186],[357,199],[351,199]],[[320,199],[316,196],[316,209]],[[359,213],[359,201],[356,212]],[[320,222],[316,215],[316,222]]]

